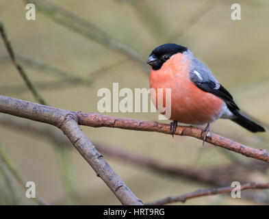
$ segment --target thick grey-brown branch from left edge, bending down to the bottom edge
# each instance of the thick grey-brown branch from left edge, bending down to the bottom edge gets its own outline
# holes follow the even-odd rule
[[[0,96],[0,112],[48,123],[60,128],[121,203],[142,205],[142,202],[129,190],[90,140],[86,138],[77,124],[76,113],[5,96]]]

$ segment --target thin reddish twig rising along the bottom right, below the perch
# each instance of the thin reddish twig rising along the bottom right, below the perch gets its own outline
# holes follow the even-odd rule
[[[240,186],[240,190],[251,190],[251,189],[268,189],[269,183],[246,183],[244,185]],[[234,187],[224,187],[224,188],[213,188],[209,190],[198,190],[196,192],[191,192],[188,194],[183,194],[180,196],[173,196],[173,197],[166,197],[162,198],[157,201],[153,201],[150,203],[146,203],[146,205],[166,205],[168,203],[175,203],[175,202],[181,202],[185,203],[190,198],[197,198],[201,196],[211,196],[215,194],[224,194],[224,193],[230,193],[232,190],[234,190]]]

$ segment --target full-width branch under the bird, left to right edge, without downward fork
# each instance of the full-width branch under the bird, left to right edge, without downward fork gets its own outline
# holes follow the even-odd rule
[[[159,133],[170,134],[170,127],[166,124],[129,118],[115,118],[97,113],[76,113],[68,110],[60,110],[55,107],[39,105],[37,103],[12,99],[6,96],[0,96],[0,112],[29,118],[42,123],[48,123],[56,127],[62,126],[59,121],[64,120],[63,116],[71,114],[77,118],[79,125],[90,127],[114,127],[139,131],[156,131]],[[177,131],[175,132],[175,134],[179,136],[191,136],[203,140],[201,133],[201,129],[186,126],[177,127]],[[229,151],[235,151],[246,157],[253,157],[269,163],[269,153],[265,149],[253,149],[216,134],[212,134],[212,138],[207,138],[206,141]]]

